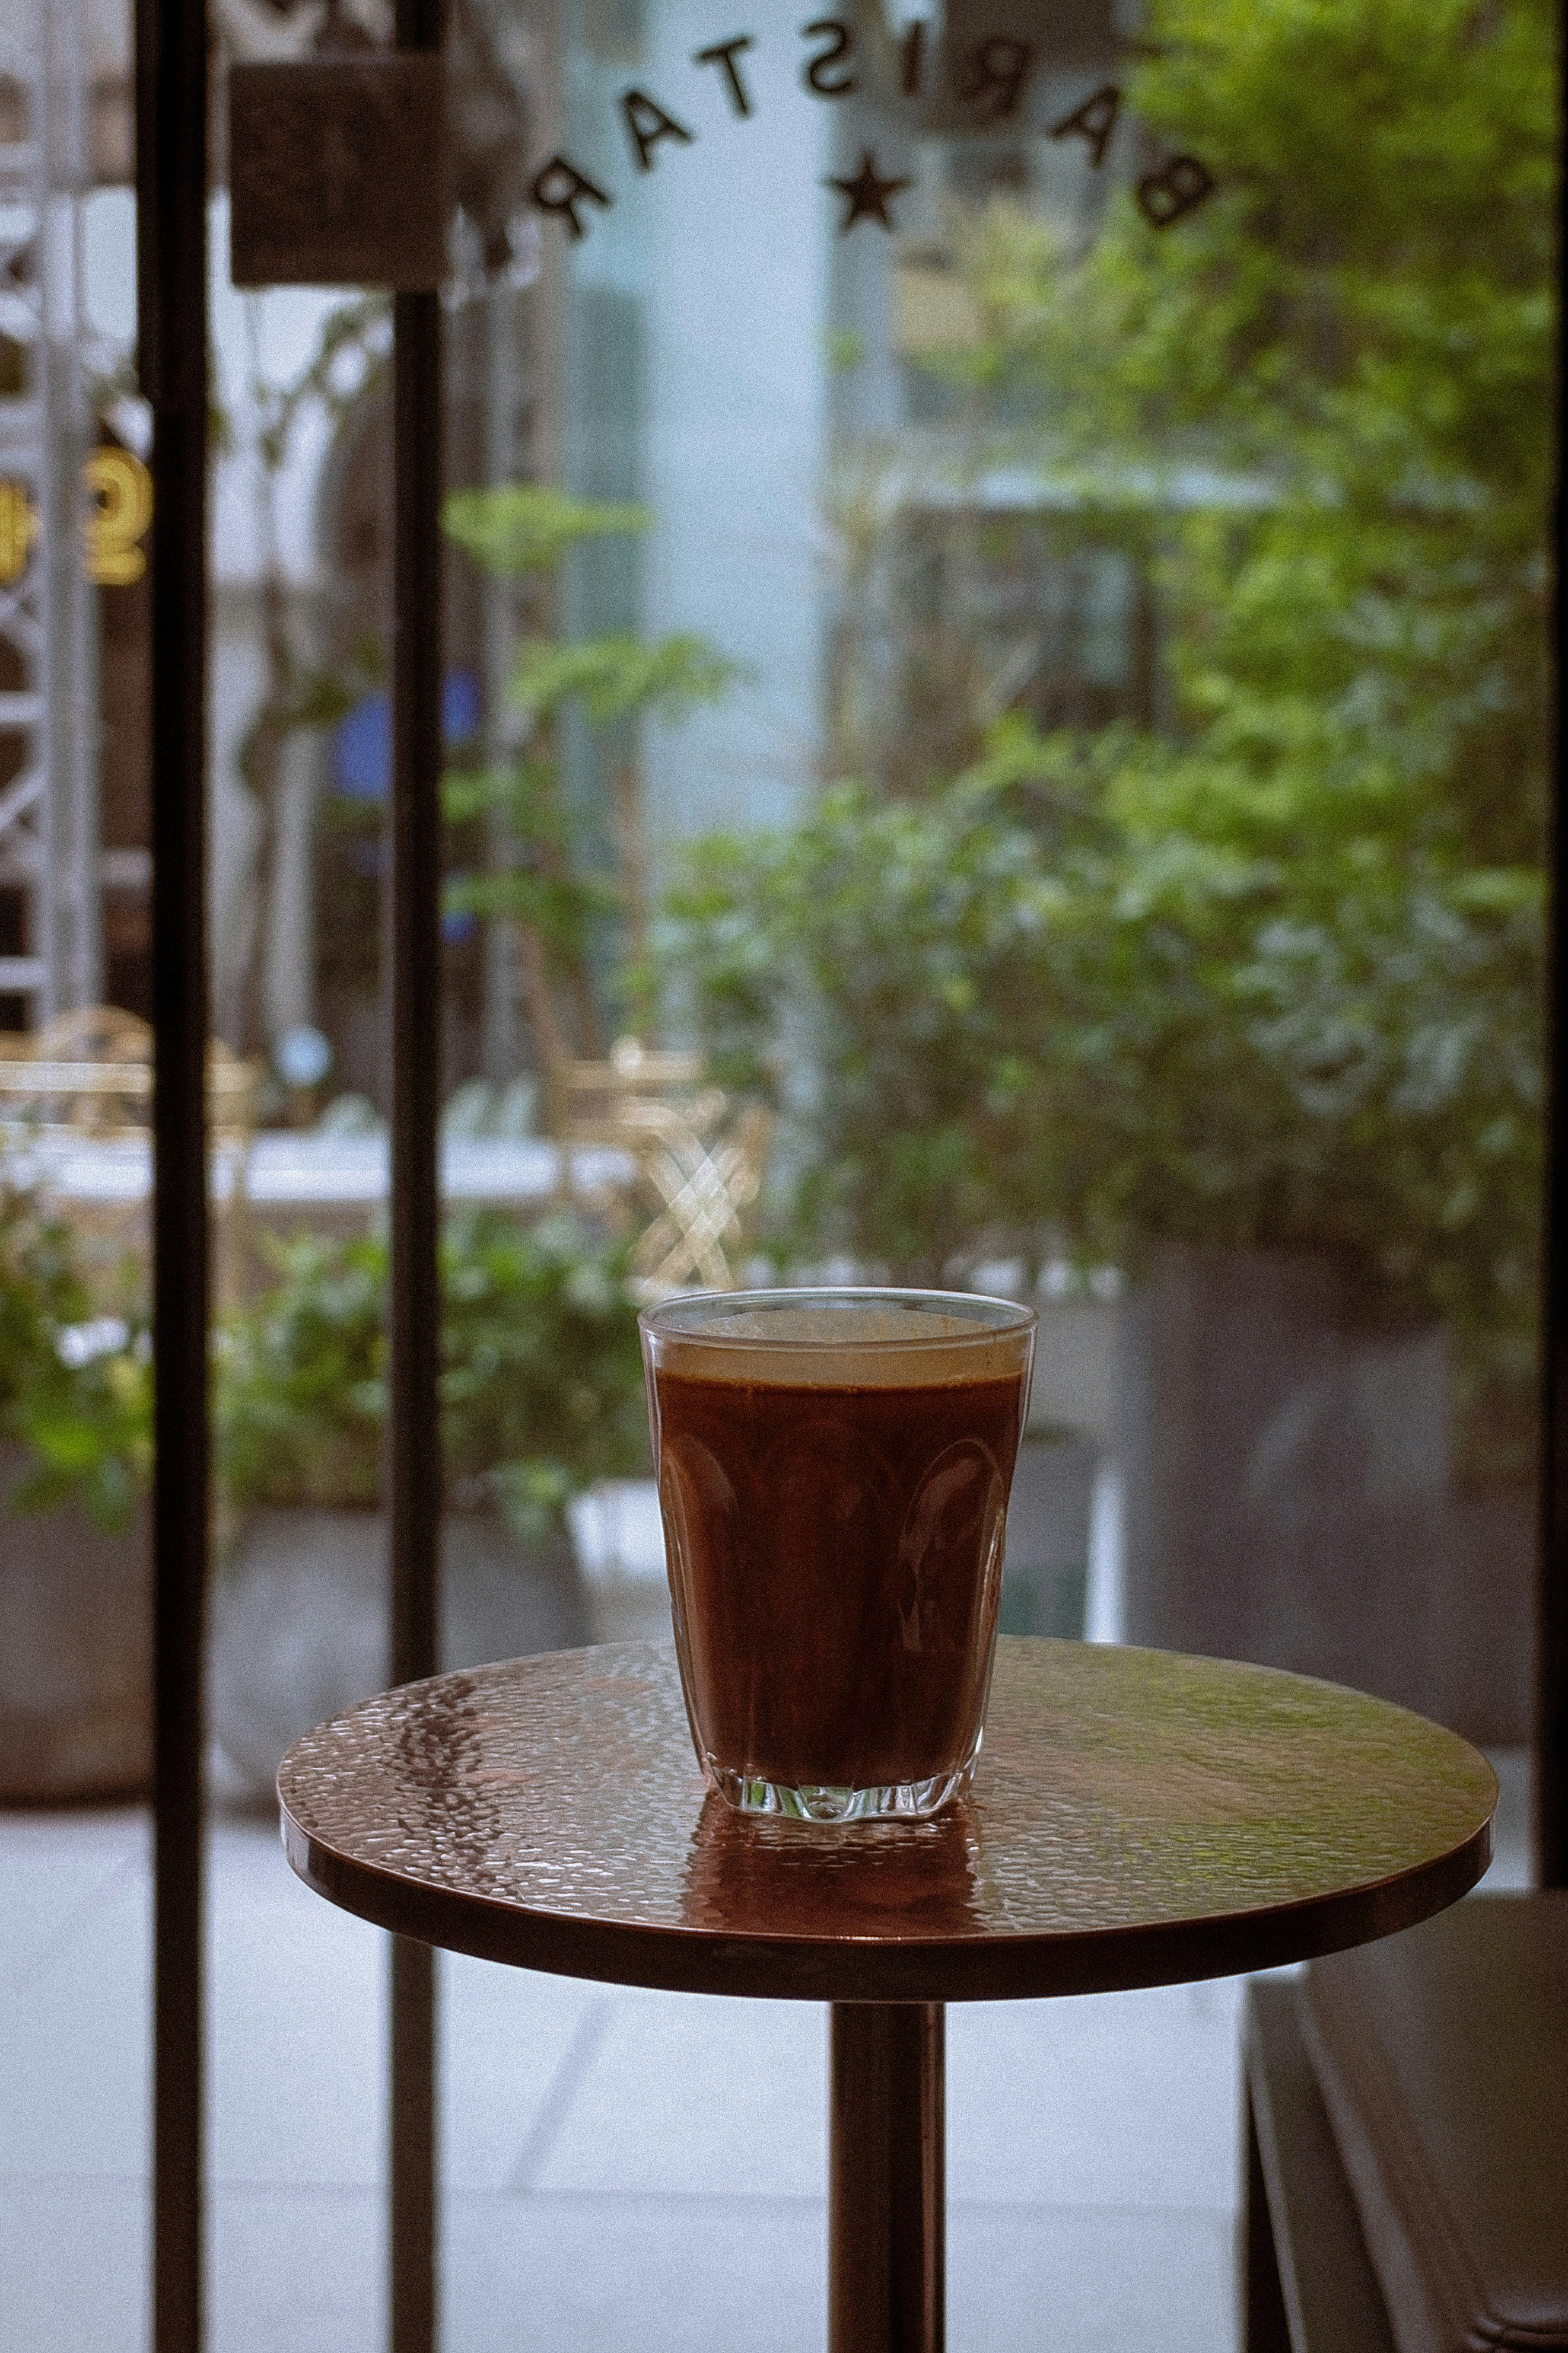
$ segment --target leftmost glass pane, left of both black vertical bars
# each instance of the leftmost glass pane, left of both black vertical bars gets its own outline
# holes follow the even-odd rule
[[[148,527],[129,14],[0,12],[0,2337],[146,2327]]]

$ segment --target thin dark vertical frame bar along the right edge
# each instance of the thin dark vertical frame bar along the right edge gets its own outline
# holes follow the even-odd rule
[[[1556,28],[1559,125],[1568,35]],[[1561,129],[1559,129],[1561,141]],[[1547,1200],[1542,1275],[1542,1504],[1535,1617],[1535,1875],[1568,1887],[1568,167],[1559,146],[1556,485],[1552,511],[1552,788],[1547,948]]]

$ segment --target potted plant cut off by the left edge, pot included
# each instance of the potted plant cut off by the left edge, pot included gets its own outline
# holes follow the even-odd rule
[[[120,1795],[153,1762],[150,1351],[101,1308],[71,1228],[0,1188],[5,1802]]]

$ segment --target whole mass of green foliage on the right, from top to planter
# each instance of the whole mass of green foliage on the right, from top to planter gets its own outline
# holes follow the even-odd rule
[[[1161,0],[1150,31],[1128,96],[1215,195],[1154,233],[1121,191],[1086,252],[971,216],[947,372],[1084,534],[1143,539],[1173,725],[1013,720],[910,809],[710,845],[670,946],[736,1068],[811,1061],[797,1238],[1326,1245],[1521,1384],[1552,16]]]

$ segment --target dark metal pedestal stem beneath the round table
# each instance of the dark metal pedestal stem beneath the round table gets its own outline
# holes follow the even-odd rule
[[[827,2153],[830,2353],[943,2353],[940,2002],[835,2002]]]

